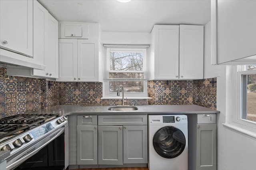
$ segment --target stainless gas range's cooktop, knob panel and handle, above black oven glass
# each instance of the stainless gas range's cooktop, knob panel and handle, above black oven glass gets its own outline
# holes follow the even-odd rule
[[[0,119],[0,150],[10,150],[6,169],[14,169],[39,152],[64,133],[67,123],[67,118],[59,114],[20,114]]]

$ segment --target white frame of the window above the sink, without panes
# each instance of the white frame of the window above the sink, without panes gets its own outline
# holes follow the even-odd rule
[[[115,47],[113,47],[111,49],[111,51],[131,51],[131,52],[136,52],[136,50],[138,51],[143,51],[143,70],[144,71],[123,71],[123,72],[127,72],[127,73],[130,73],[130,72],[133,72],[133,73],[136,73],[136,72],[141,72],[141,73],[144,73],[144,79],[112,79],[112,78],[109,78],[109,73],[111,72],[117,72],[117,71],[110,71],[110,65],[109,65],[109,62],[110,62],[110,49],[107,49],[106,51],[106,54],[104,55],[107,55],[107,56],[104,56],[106,57],[105,58],[105,63],[104,63],[104,81],[103,81],[103,97],[102,99],[120,99],[122,98],[122,95],[120,96],[117,96],[116,93],[110,93],[109,92],[109,81],[143,81],[143,84],[144,84],[144,92],[142,93],[126,93],[124,92],[124,97],[128,98],[128,99],[148,99],[148,87],[147,87],[147,66],[148,66],[148,57],[147,56],[147,50],[144,49],[145,48],[145,45],[128,45],[128,48],[126,48],[124,45],[120,45],[121,47],[118,47],[117,46],[117,49],[115,49]],[[134,47],[134,48],[132,48]],[[146,47],[148,47],[148,45],[146,45]],[[122,91],[121,91],[122,93]]]

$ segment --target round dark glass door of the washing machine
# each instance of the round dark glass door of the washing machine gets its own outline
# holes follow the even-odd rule
[[[154,134],[153,145],[160,156],[175,158],[183,152],[186,146],[186,138],[180,129],[166,126],[160,128]]]

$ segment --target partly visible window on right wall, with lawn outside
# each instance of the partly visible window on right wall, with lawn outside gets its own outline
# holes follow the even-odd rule
[[[256,65],[238,68],[240,103],[238,120],[256,124]]]

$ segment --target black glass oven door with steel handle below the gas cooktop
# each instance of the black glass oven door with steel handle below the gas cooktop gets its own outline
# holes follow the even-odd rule
[[[43,166],[44,164],[42,163],[42,160],[47,160],[48,158],[46,158],[47,156],[47,152],[46,150],[51,150],[53,151],[53,154],[49,154],[52,156],[56,156],[54,155],[54,152],[56,153],[62,153],[62,156],[64,157],[64,132],[65,132],[65,126],[59,127],[56,130],[52,131],[50,134],[48,134],[47,136],[45,136],[42,140],[38,141],[36,144],[30,146],[30,148],[26,149],[24,152],[18,154],[17,156],[15,156],[14,158],[7,160],[6,162],[6,169],[7,170],[12,170],[14,168],[16,168],[17,170],[19,169],[28,169],[28,167],[30,167],[29,169],[32,169],[32,164],[36,164],[36,166],[38,166],[37,170],[40,170],[40,166]],[[54,147],[54,145],[58,145],[60,147]],[[63,147],[61,146],[63,145]],[[62,148],[62,149],[61,149]],[[36,156],[34,156],[35,154],[37,154],[37,157],[40,157],[40,159],[38,161],[33,161],[33,159],[36,158]],[[32,157],[30,160],[29,158]],[[54,162],[54,159],[49,158],[48,160],[48,165],[47,166],[51,166],[51,165],[58,165],[58,164],[63,164],[63,168],[64,169],[64,158],[63,158],[63,163],[60,162]],[[20,166],[19,166],[20,165]],[[24,166],[22,168],[22,166]]]

